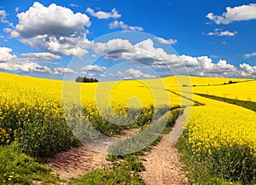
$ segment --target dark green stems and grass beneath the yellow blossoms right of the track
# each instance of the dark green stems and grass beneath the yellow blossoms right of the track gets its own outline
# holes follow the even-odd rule
[[[255,184],[255,157],[244,155],[247,148],[241,150],[235,146],[235,149],[224,147],[219,151],[212,151],[211,155],[205,151],[195,155],[188,144],[186,133],[184,130],[176,147],[183,153],[182,160],[186,165],[184,171],[188,171],[189,184]],[[237,153],[243,154],[243,158],[237,159]],[[242,156],[241,154],[238,156]]]

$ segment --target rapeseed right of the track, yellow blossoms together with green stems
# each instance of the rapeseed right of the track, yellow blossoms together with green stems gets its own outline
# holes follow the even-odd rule
[[[256,113],[193,95],[201,107],[184,111],[186,150],[201,171],[242,184],[256,178]],[[193,171],[193,170],[192,170]]]

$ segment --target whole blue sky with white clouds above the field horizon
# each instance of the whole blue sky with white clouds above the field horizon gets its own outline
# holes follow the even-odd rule
[[[1,1],[0,71],[256,78],[252,1]]]

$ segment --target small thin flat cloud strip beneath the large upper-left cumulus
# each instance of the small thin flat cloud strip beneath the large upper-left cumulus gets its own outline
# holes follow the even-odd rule
[[[30,58],[32,61],[52,61],[52,60],[60,60],[61,56],[54,55],[51,53],[23,53],[21,56],[26,56]]]

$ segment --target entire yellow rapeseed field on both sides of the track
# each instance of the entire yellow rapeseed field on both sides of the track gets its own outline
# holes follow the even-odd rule
[[[162,115],[162,107],[186,107],[183,137],[193,158],[213,169],[236,162],[234,171],[250,173],[248,164],[254,166],[256,157],[256,113],[192,93],[256,101],[256,81],[216,85],[230,80],[246,81],[177,76],[79,84],[0,72],[0,144],[17,141],[26,153],[45,156],[77,146],[76,136],[92,138],[95,133],[84,133],[84,126],[114,136],[135,124],[148,126],[154,114]],[[123,125],[128,119],[132,125]],[[224,171],[233,171],[228,169]]]

